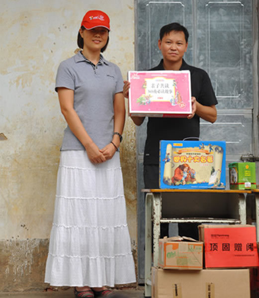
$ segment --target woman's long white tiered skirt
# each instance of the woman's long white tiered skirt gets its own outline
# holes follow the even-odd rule
[[[114,287],[136,282],[119,153],[92,164],[61,151],[45,282]]]

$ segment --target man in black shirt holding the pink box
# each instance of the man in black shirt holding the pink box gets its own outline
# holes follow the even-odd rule
[[[178,23],[165,25],[160,30],[158,47],[163,55],[160,64],[150,71],[190,71],[192,114],[187,118],[153,118],[149,117],[147,140],[144,152],[144,183],[145,188],[159,188],[159,144],[160,140],[183,140],[199,138],[200,118],[215,122],[218,103],[208,74],[187,65],[183,55],[187,51],[189,33]],[[125,81],[123,94],[128,98],[130,83]],[[131,117],[136,125],[141,125],[145,117]],[[190,140],[190,139],[189,139]],[[161,230],[161,236],[168,235],[166,229]],[[179,235],[198,238],[197,228],[193,224],[179,224]]]

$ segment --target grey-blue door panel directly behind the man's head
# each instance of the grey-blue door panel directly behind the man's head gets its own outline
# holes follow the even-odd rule
[[[183,23],[189,28],[189,48],[186,61],[192,63],[192,2],[137,1],[137,70],[148,70],[161,60],[158,48],[160,28],[171,22]]]

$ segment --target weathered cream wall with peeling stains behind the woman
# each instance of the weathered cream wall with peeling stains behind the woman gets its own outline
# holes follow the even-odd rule
[[[111,19],[104,56],[126,78],[134,69],[133,4],[134,0],[1,0],[0,134],[7,140],[1,135],[0,291],[44,288],[46,239],[66,127],[54,91],[58,65],[74,55],[84,13],[101,9]],[[130,119],[121,161],[136,251],[135,129]]]

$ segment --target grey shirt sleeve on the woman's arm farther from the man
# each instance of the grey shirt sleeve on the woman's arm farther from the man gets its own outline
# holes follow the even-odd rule
[[[58,91],[58,87],[75,90],[75,78],[72,75],[66,61],[61,62],[58,68],[55,91]]]

